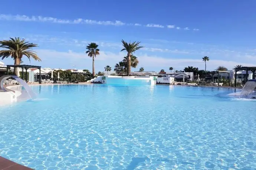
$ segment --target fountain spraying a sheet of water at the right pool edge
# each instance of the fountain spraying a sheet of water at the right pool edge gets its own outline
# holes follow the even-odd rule
[[[240,98],[253,98],[255,99],[256,96],[254,94],[254,89],[256,87],[256,79],[251,79],[246,82],[244,85],[242,92],[240,93]]]

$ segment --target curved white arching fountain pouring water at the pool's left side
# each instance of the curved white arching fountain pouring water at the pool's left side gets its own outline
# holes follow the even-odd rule
[[[12,91],[8,88],[4,88],[3,84],[4,84],[4,81],[6,81],[8,78],[14,78],[16,79],[22,86],[23,88],[26,90],[26,93],[28,95],[24,96],[24,94],[22,94],[20,96],[20,98],[23,98],[23,99],[35,99],[36,98],[36,93],[32,91],[32,89],[29,87],[29,85],[27,85],[27,83],[19,78],[18,76],[14,76],[14,75],[3,75],[0,77],[0,90],[4,91],[4,92],[7,92],[7,91]]]

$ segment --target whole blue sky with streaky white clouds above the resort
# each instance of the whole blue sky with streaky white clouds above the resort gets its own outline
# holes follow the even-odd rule
[[[135,52],[147,71],[181,70],[188,65],[207,69],[219,65],[256,66],[255,0],[124,1],[4,1],[0,11],[0,40],[23,37],[39,45],[42,62],[50,68],[92,69],[85,53],[88,43],[99,44],[96,71],[125,56],[121,40],[141,41]],[[155,1],[156,2],[156,1]],[[12,6],[13,10],[10,10]],[[29,64],[27,59],[23,59]],[[13,64],[12,59],[4,59]]]

